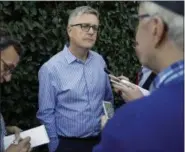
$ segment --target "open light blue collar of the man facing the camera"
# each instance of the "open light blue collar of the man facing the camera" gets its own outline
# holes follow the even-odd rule
[[[64,54],[65,54],[65,58],[68,62],[68,64],[71,64],[72,62],[74,61],[77,61],[77,62],[81,62],[81,63],[84,63],[83,61],[81,61],[80,59],[76,58],[70,51],[69,51],[69,45],[65,45],[64,46]],[[93,53],[91,51],[89,51],[88,53],[88,57],[87,57],[87,60],[85,61],[85,64],[90,62],[91,59],[93,58]]]

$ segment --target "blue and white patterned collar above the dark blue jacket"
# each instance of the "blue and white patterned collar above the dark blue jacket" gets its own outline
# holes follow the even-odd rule
[[[184,60],[175,62],[168,68],[160,72],[153,83],[154,88],[160,88],[162,85],[165,85],[181,76],[184,76]]]

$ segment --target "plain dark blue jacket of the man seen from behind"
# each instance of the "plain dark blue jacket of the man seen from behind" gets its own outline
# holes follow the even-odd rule
[[[184,152],[184,80],[119,108],[93,152]]]

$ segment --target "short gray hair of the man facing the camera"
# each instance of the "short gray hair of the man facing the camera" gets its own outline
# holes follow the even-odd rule
[[[99,19],[99,13],[97,10],[95,10],[94,8],[91,8],[90,6],[80,6],[80,7],[77,7],[76,9],[74,9],[70,13],[69,19],[68,19],[68,25],[72,24],[73,19],[75,17],[81,16],[83,14],[93,14]]]

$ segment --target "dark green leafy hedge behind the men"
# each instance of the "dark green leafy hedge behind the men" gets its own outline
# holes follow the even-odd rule
[[[100,32],[94,49],[109,69],[135,80],[139,68],[134,51],[138,4],[135,2],[0,2],[0,27],[5,27],[25,50],[11,83],[1,86],[1,111],[6,123],[23,129],[37,126],[38,70],[59,52],[66,40],[68,13],[90,5],[100,12]],[[116,97],[116,101],[118,98]],[[117,101],[117,106],[120,103]],[[37,150],[38,151],[38,150]]]

